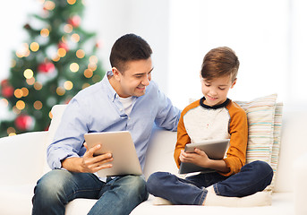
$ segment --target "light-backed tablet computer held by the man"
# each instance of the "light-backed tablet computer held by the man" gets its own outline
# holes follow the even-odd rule
[[[94,153],[94,156],[112,153],[113,161],[109,162],[112,168],[99,170],[99,177],[142,175],[140,161],[130,132],[85,133],[84,139],[89,149],[101,144],[101,148]]]

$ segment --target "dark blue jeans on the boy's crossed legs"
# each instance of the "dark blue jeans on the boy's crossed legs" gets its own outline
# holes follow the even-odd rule
[[[189,176],[185,179],[166,172],[149,176],[149,193],[174,204],[201,205],[213,185],[217,195],[243,197],[264,190],[272,181],[273,169],[268,163],[254,161],[246,164],[233,176],[221,176],[217,172]]]

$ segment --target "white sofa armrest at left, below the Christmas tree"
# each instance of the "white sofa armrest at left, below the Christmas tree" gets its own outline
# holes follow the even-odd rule
[[[46,158],[47,132],[22,133],[0,139],[0,185],[36,183]]]

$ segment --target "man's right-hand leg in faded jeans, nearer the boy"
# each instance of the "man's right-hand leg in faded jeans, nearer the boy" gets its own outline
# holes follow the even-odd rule
[[[101,197],[90,210],[90,215],[129,214],[148,199],[149,193],[142,176],[119,176],[108,181],[99,196]]]

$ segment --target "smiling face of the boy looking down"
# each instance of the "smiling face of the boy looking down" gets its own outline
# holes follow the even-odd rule
[[[227,99],[228,91],[235,86],[230,76],[218,77],[212,80],[203,79],[200,75],[201,91],[206,100],[205,105],[210,107],[220,105]]]

